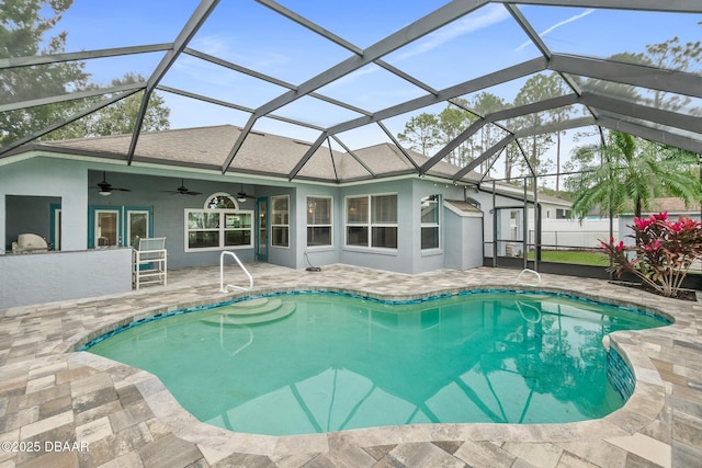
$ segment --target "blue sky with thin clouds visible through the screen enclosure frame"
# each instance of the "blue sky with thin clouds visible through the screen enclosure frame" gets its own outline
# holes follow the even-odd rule
[[[168,43],[176,38],[197,3],[196,0],[75,0],[58,27],[68,31],[67,52]],[[445,1],[281,0],[280,3],[365,48],[440,8]],[[556,53],[608,57],[621,52],[644,52],[647,44],[675,36],[682,42],[702,37],[702,26],[698,25],[702,21],[700,15],[555,7],[520,9]],[[292,84],[299,84],[351,56],[342,47],[249,0],[223,0],[196,34],[191,47]],[[509,12],[500,4],[488,4],[384,59],[427,84],[443,89],[537,56],[537,50]],[[107,84],[126,71],[148,77],[160,57],[160,54],[149,54],[91,60],[87,70],[97,82]],[[252,109],[286,91],[188,56],[173,65],[161,84]],[[509,102],[521,84],[523,80],[489,91]],[[319,92],[371,112],[424,94],[374,65],[322,87]],[[245,112],[197,103],[170,93],[165,96],[171,107],[173,128],[244,125],[248,118]],[[441,109],[443,105],[422,111],[439,112]],[[320,126],[358,116],[310,98],[278,113]],[[401,132],[404,122],[411,115],[392,119],[388,127],[395,134]],[[270,119],[262,119],[257,128],[306,140],[314,140],[317,136],[316,132]],[[349,142],[352,148],[372,144],[375,137],[371,134],[377,135],[378,130],[367,129],[365,136],[363,132],[354,134],[358,135],[348,136],[355,140]]]

